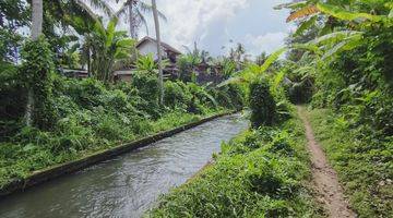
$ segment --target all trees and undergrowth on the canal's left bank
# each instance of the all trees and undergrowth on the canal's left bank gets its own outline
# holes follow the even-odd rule
[[[133,39],[135,25],[144,21],[141,10],[152,11],[150,4],[130,1],[114,13],[102,0],[35,2],[0,3],[0,187],[36,170],[242,108],[241,87],[176,78],[165,81],[167,95],[159,102],[158,64],[138,53]],[[128,37],[117,25],[130,3],[135,25]],[[32,40],[17,32],[31,19]],[[64,66],[87,66],[81,76],[87,78],[66,77]],[[131,82],[115,83],[115,70],[130,66]]]

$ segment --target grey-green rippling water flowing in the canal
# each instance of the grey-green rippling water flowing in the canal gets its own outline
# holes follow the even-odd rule
[[[1,218],[140,217],[247,129],[227,116],[0,201]]]

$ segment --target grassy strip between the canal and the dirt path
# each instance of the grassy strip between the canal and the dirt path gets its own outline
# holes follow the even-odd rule
[[[305,130],[295,117],[222,145],[214,164],[163,196],[147,217],[323,217],[308,187]]]

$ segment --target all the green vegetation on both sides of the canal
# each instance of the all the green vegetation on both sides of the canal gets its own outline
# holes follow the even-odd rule
[[[86,1],[95,10],[75,0],[32,2],[0,2],[0,187],[35,170],[246,105],[251,129],[224,143],[214,165],[163,197],[150,215],[324,216],[307,187],[305,134],[290,105],[308,104],[317,137],[357,216],[391,216],[391,1],[277,5],[290,10],[287,22],[297,25],[285,48],[251,61],[241,43],[219,58],[195,43],[193,51],[158,61],[175,68],[164,84],[153,56],[135,48],[142,13],[157,15],[155,4],[127,1],[115,13],[104,0]],[[117,31],[127,9],[129,35]],[[155,25],[159,29],[157,19]],[[29,26],[32,40],[21,34]],[[63,76],[64,68],[84,66],[88,75],[81,77],[87,78]],[[135,69],[131,82],[115,83],[115,70],[129,68]]]

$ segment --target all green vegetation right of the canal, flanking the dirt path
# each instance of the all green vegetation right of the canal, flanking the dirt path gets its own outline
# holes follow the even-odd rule
[[[338,172],[357,215],[391,216],[392,5],[388,1],[313,0],[278,5],[277,9],[291,10],[288,22],[298,22],[287,47],[269,58],[261,55],[255,63],[246,63],[239,73],[222,83],[222,86],[250,84],[247,94],[251,123],[261,128],[224,144],[215,164],[164,197],[152,216],[315,216],[301,201],[291,198],[299,196],[291,183],[283,182],[290,178],[303,183],[307,178],[301,170],[299,177],[291,178],[291,169],[285,168],[289,161],[286,156],[293,155],[290,160],[298,157],[305,142],[291,138],[290,134],[284,137],[301,145],[296,152],[288,152],[288,144],[278,148],[275,144],[277,135],[288,132],[288,126],[278,123],[284,120],[296,126],[296,119],[285,121],[288,118],[285,98],[313,108],[311,120],[318,140]],[[285,51],[287,58],[277,61]],[[266,124],[282,126],[284,132],[271,134]],[[271,138],[258,137],[265,134],[271,134]],[[265,157],[275,157],[277,153],[281,167],[271,162],[274,158]],[[299,159],[307,162],[307,158]],[[286,177],[275,172],[277,169],[284,170]],[[284,194],[287,184],[289,190],[295,190],[293,195]],[[275,187],[279,192],[272,192]]]

